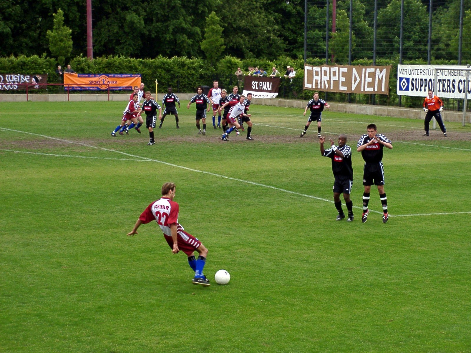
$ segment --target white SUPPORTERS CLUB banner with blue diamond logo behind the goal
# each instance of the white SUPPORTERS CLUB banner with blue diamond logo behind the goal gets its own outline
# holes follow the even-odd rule
[[[437,89],[434,87],[435,68],[443,65],[398,65],[398,95],[402,96],[427,96],[431,89],[441,98],[462,98],[464,92],[468,92],[471,98],[471,73],[466,89],[466,66],[446,66],[448,70],[437,71]]]

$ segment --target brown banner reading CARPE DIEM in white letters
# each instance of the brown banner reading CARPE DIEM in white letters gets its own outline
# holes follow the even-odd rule
[[[304,89],[324,92],[389,95],[388,66],[304,64]]]

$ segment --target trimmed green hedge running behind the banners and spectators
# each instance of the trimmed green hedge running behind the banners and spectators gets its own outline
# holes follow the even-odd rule
[[[396,94],[397,84],[397,65],[398,58],[378,59],[377,65],[391,65],[389,80],[389,96],[376,95],[375,104],[397,105],[398,95]],[[158,56],[154,59],[133,59],[123,56],[102,56],[90,61],[86,57],[78,56],[70,62],[73,70],[82,73],[140,73],[142,81],[146,87],[154,91],[155,80],[158,81],[159,92],[165,92],[168,86],[172,86],[174,92],[195,92],[199,85],[212,86],[213,80],[219,80],[219,87],[231,90],[232,86],[237,84],[234,72],[237,67],[247,71],[248,66],[258,66],[265,69],[268,74],[271,68],[276,66],[282,75],[279,97],[297,98],[308,100],[312,97],[312,91],[303,90],[303,67],[302,59],[291,59],[286,56],[280,56],[276,60],[266,59],[244,59],[240,60],[234,56],[222,58],[214,67],[209,66],[203,59],[189,59],[187,57],[166,58]],[[322,65],[325,59],[309,58],[308,64]],[[372,65],[373,60],[361,59],[355,60],[353,65]],[[427,64],[421,60],[405,61],[404,64]],[[434,64],[447,65],[455,64],[452,61],[435,61]],[[286,66],[292,66],[297,74],[293,80],[283,77]],[[65,67],[66,65],[62,65]],[[30,74],[49,74],[49,83],[59,83],[60,78],[55,73],[57,62],[55,59],[43,56],[8,56],[0,57],[0,73],[30,73]],[[57,87],[49,87],[49,93],[58,91]],[[5,91],[4,91],[5,92]],[[16,93],[11,91],[9,93]],[[83,92],[81,92],[83,93]],[[95,92],[93,92],[95,93]],[[323,96],[323,95],[321,95]],[[328,93],[329,101],[346,102],[348,95],[344,93]],[[371,104],[372,95],[351,94],[350,102],[359,104]],[[420,106],[423,98],[402,96],[402,106]]]

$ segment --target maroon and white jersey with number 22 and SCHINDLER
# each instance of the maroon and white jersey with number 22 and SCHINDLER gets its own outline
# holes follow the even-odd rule
[[[173,223],[177,224],[177,233],[182,235],[183,227],[178,223],[178,203],[171,201],[167,197],[162,197],[160,200],[152,202],[144,212],[141,213],[139,219],[143,224],[155,221],[165,235],[172,236],[170,226]]]

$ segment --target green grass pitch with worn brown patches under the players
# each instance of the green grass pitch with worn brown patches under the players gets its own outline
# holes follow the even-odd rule
[[[354,151],[347,223],[303,109],[252,104],[254,141],[223,142],[186,104],[147,146],[145,128],[110,136],[125,102],[0,103],[0,352],[471,351],[469,125],[426,139],[422,120],[326,111]],[[370,122],[394,146],[387,224],[374,188],[360,219]],[[209,288],[154,223],[126,236],[166,181]]]

